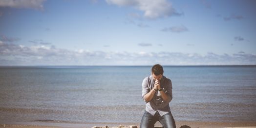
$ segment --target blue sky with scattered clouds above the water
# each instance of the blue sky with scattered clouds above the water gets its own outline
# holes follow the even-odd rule
[[[256,64],[256,0],[0,0],[0,65]]]

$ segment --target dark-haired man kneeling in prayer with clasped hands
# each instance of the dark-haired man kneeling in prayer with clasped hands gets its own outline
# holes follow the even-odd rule
[[[169,106],[172,99],[171,80],[163,74],[163,67],[155,64],[151,68],[151,75],[142,82],[142,98],[146,102],[146,111],[140,128],[154,128],[156,121],[163,128],[176,128]]]

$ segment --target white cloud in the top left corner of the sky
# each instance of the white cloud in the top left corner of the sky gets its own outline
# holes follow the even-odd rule
[[[43,9],[45,0],[0,0],[0,7]]]

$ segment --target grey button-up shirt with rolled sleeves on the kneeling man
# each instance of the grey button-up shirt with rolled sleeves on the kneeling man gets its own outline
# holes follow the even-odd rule
[[[154,115],[157,112],[161,116],[171,112],[169,103],[172,99],[172,85],[171,80],[166,78],[165,76],[162,77],[160,80],[160,85],[163,91],[168,95],[167,100],[163,100],[161,93],[159,91],[155,92],[154,97],[150,101],[146,101],[144,96],[150,92],[150,90],[154,87],[154,80],[152,75],[146,77],[142,82],[142,98],[146,102],[146,111],[150,114]]]

